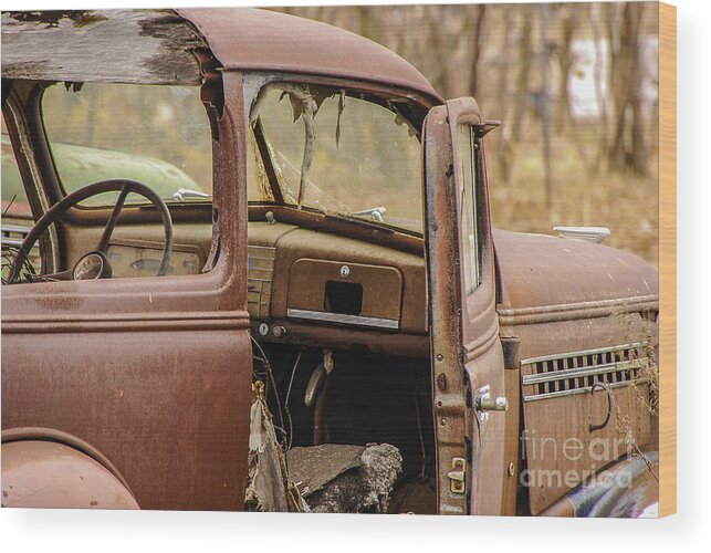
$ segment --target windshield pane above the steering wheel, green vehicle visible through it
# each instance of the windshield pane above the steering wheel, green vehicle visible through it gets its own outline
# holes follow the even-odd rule
[[[52,157],[69,194],[105,179],[137,180],[165,199],[212,191],[210,122],[198,86],[55,84],[42,97]],[[182,194],[180,190],[195,194]],[[117,192],[90,205],[113,205]],[[137,195],[127,201],[145,202]]]

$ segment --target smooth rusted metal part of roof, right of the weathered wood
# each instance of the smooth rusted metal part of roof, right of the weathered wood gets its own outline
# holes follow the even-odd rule
[[[441,102],[394,52],[363,36],[284,13],[239,8],[180,9],[228,70],[338,76],[411,90]]]

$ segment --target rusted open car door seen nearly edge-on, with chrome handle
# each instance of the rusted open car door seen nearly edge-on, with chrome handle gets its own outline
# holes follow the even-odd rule
[[[504,363],[495,311],[479,107],[447,102],[425,122],[426,240],[438,510],[500,514]],[[510,398],[515,405],[514,398]]]

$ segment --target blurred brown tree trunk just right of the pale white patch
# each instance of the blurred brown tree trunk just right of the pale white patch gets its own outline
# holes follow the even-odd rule
[[[614,104],[608,163],[610,169],[627,169],[638,175],[647,174],[639,48],[644,9],[644,3],[625,3],[621,24],[608,24],[609,82]]]

